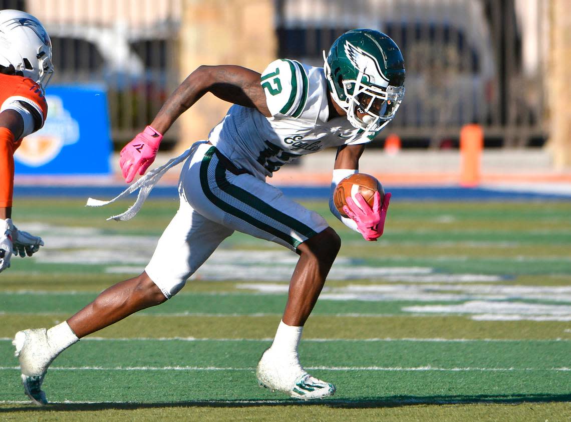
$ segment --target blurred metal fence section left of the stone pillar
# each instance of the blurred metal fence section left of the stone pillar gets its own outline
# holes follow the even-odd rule
[[[148,124],[178,85],[182,0],[1,0],[38,17],[50,34],[50,85],[107,89],[112,139],[121,146]],[[175,142],[176,126],[166,141]]]

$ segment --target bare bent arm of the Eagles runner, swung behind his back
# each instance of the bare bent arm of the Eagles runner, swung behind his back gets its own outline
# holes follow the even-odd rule
[[[242,66],[200,66],[167,99],[151,126],[164,134],[178,116],[208,92],[224,101],[256,108],[271,117],[260,77],[258,72]]]

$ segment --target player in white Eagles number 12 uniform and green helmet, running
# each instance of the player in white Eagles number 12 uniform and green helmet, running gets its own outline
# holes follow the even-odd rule
[[[175,295],[186,280],[235,230],[281,244],[299,254],[274,342],[262,355],[260,385],[299,399],[332,395],[333,384],[301,367],[297,345],[340,239],[323,217],[285,198],[266,183],[284,164],[301,155],[337,147],[332,188],[358,171],[364,145],[395,115],[404,95],[404,61],[399,47],[374,30],[341,35],[324,68],[276,60],[262,75],[239,66],[200,66],[167,99],[151,126],[121,151],[127,182],[144,174],[155,159],[162,134],[182,112],[210,92],[234,103],[207,141],[195,143],[180,182],[180,208],[144,272],[115,284],[67,321],[50,329],[16,334],[14,345],[26,393],[47,403],[41,384],[55,357],[79,338]],[[167,166],[168,167],[168,166]],[[156,183],[165,167],[133,186]],[[159,172],[157,172],[160,170]],[[131,190],[131,189],[130,189]],[[352,218],[341,218],[366,240],[383,233],[391,194],[369,207],[349,203]],[[138,201],[139,202],[139,201]],[[130,218],[131,208],[118,219]]]

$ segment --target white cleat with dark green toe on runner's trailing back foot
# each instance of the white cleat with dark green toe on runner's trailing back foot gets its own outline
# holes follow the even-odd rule
[[[18,357],[22,369],[24,391],[38,406],[47,404],[46,393],[42,391],[43,377],[55,357],[46,332],[45,328],[18,331],[12,341],[16,347],[14,355]]]

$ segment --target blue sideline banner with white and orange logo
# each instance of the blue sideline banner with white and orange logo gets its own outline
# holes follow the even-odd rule
[[[44,126],[14,154],[17,175],[107,175],[107,95],[98,86],[49,86]]]

